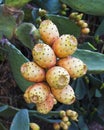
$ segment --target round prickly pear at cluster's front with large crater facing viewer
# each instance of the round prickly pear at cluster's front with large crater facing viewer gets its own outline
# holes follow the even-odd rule
[[[69,84],[70,75],[60,66],[54,66],[46,72],[46,81],[52,88],[64,88]]]

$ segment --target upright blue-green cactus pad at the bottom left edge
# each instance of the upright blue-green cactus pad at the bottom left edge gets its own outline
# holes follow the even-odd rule
[[[16,113],[10,130],[29,130],[29,115],[26,109],[21,109]]]

